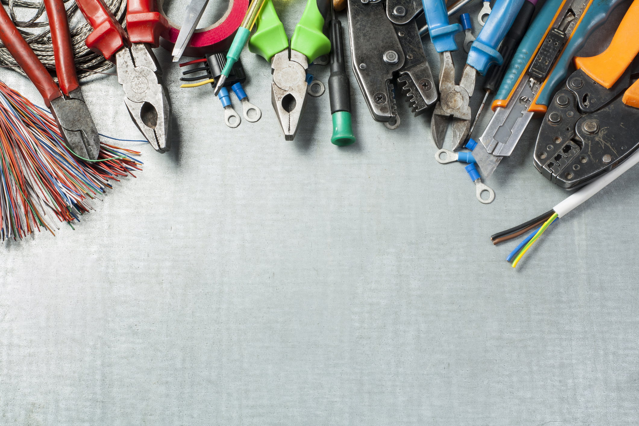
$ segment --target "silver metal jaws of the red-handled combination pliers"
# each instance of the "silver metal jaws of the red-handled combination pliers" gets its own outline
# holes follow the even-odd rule
[[[159,153],[171,149],[171,101],[162,70],[147,43],[133,43],[116,52],[118,82],[135,125]]]

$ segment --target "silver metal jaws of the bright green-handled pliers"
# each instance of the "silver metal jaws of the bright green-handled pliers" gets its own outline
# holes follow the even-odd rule
[[[286,141],[295,139],[300,118],[306,108],[308,68],[307,57],[293,49],[282,50],[271,61],[271,100]]]

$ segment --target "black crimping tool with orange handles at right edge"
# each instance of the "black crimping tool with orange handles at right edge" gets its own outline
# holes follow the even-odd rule
[[[602,54],[575,57],[577,70],[557,92],[535,144],[534,164],[566,189],[579,188],[639,148],[639,0]],[[634,62],[633,62],[634,60]]]

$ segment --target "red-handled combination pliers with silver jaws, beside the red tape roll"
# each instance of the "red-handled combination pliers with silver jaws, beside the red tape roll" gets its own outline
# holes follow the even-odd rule
[[[93,27],[86,38],[89,49],[115,61],[124,102],[135,125],[159,153],[171,149],[171,102],[162,81],[162,68],[152,47],[169,24],[153,10],[153,0],[128,0],[127,31],[101,0],[77,0]]]

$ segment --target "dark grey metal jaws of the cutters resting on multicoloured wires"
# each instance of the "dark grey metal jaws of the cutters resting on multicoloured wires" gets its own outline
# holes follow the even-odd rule
[[[68,148],[84,160],[97,160],[100,135],[80,88],[70,91],[68,97],[59,96],[51,100],[50,109]]]

